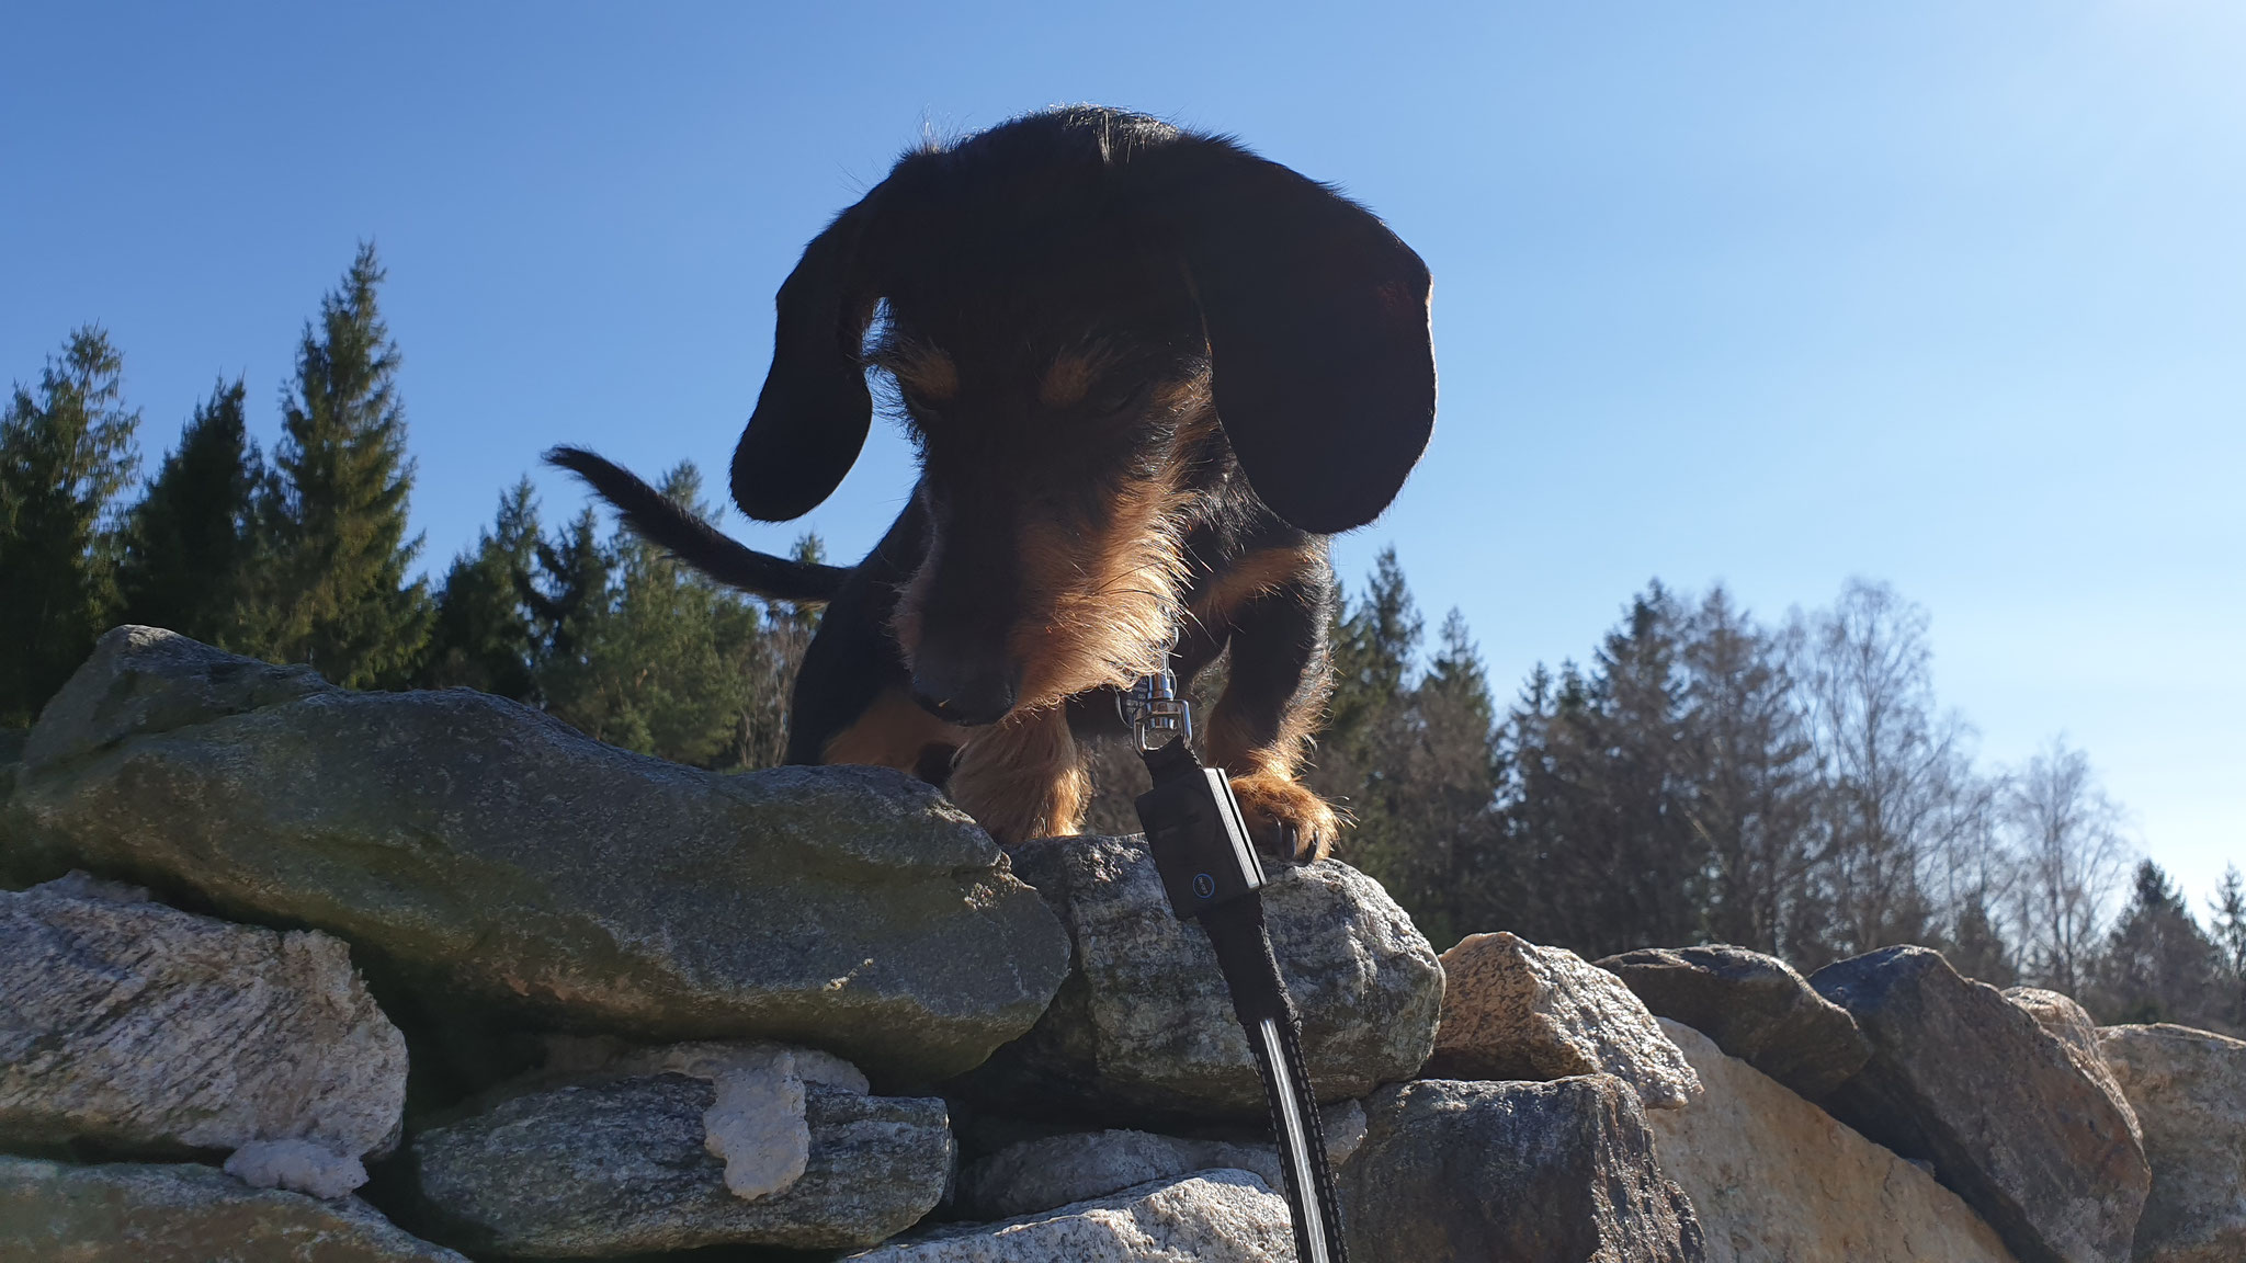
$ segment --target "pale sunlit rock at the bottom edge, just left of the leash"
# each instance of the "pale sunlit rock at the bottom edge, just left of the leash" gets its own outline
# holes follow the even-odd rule
[[[1247,1171],[1206,1171],[990,1225],[946,1225],[858,1263],[1294,1263],[1287,1200]]]

